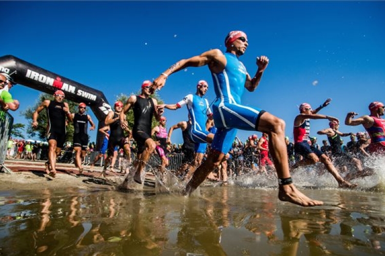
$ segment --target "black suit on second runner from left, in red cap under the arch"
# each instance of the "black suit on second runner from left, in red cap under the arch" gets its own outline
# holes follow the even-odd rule
[[[73,146],[87,150],[88,145],[88,115],[75,113],[73,116]]]

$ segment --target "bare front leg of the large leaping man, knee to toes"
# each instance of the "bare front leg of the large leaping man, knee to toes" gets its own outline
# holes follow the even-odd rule
[[[272,114],[265,112],[259,120],[258,131],[269,136],[269,152],[272,155],[279,179],[290,178],[287,149],[285,143],[285,122]],[[322,205],[322,201],[312,200],[303,195],[293,183],[279,185],[278,198],[300,206]]]

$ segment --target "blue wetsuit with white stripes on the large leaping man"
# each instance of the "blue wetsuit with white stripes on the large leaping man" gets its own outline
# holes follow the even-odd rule
[[[246,68],[238,57],[224,53],[226,67],[222,72],[211,73],[216,99],[213,104],[214,122],[218,128],[211,148],[226,154],[232,147],[237,129],[255,131],[263,110],[241,105],[245,89]]]

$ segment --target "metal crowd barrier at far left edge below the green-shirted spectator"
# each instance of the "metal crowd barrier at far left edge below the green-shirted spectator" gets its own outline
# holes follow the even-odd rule
[[[7,144],[13,125],[13,117],[5,111],[0,110],[0,170],[6,173],[12,173],[5,165],[7,156]]]

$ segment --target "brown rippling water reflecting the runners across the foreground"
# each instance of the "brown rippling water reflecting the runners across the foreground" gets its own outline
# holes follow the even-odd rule
[[[0,194],[0,255],[373,255],[385,253],[382,193],[203,187],[201,197],[120,191]]]

